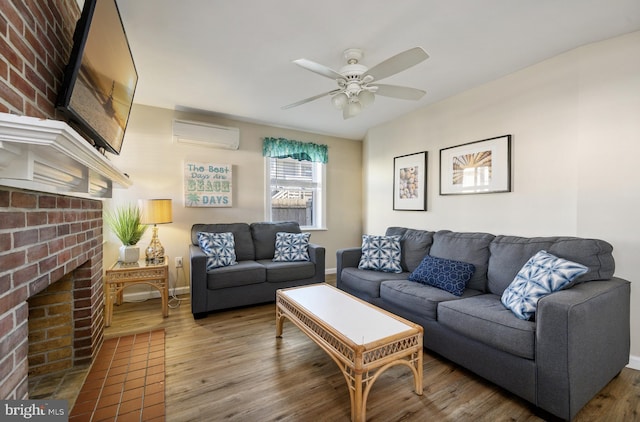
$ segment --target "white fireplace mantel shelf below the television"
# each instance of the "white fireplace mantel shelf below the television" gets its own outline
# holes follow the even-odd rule
[[[65,122],[0,113],[0,185],[99,199],[131,184]]]

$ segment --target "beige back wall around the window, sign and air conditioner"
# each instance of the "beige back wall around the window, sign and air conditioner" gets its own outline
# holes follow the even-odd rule
[[[214,149],[178,144],[173,141],[174,118],[206,121],[240,129],[238,150]],[[251,124],[211,115],[135,105],[131,112],[123,148],[119,156],[110,156],[133,185],[114,189],[113,199],[105,209],[116,205],[136,204],[138,199],[173,199],[173,223],[159,225],[159,238],[170,257],[171,286],[189,285],[190,230],[194,223],[233,223],[265,220],[265,170],[262,157],[264,137],[284,137],[326,144],[327,230],[312,231],[311,242],[326,248],[326,268],[335,270],[336,250],[359,242],[362,232],[362,142],[310,134],[272,126]],[[183,201],[184,162],[233,165],[233,207],[187,208]],[[105,266],[118,256],[118,239],[105,229]],[[138,244],[149,244],[151,230]],[[185,267],[174,268],[174,257],[182,256]],[[129,289],[128,289],[129,290]],[[135,288],[132,289],[135,291]]]

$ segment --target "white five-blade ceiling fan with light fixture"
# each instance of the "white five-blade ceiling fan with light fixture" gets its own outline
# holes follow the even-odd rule
[[[347,59],[347,65],[339,71],[307,59],[294,60],[293,62],[300,67],[335,80],[338,88],[283,106],[282,109],[297,107],[329,95],[333,105],[342,110],[342,117],[349,119],[359,114],[364,107],[371,105],[376,94],[402,100],[419,100],[425,94],[421,89],[377,83],[429,58],[422,48],[414,47],[403,51],[372,68],[359,63],[363,55],[364,52],[359,48],[345,50],[344,57]]]

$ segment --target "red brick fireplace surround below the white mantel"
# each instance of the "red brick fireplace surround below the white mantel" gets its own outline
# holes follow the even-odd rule
[[[28,398],[27,299],[73,284],[72,361],[103,340],[102,202],[0,187],[0,398]],[[66,278],[65,277],[65,278]]]

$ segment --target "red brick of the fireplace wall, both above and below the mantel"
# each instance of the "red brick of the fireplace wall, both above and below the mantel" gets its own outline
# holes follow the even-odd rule
[[[0,112],[60,119],[54,106],[76,0],[0,0]],[[69,274],[73,358],[102,342],[102,203],[0,186],[0,399],[28,397],[27,298]]]

